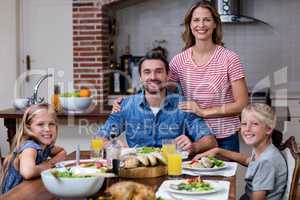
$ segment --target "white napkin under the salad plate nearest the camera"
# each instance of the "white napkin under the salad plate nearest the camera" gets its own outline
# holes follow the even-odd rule
[[[156,192],[156,197],[162,197],[166,200],[216,200],[222,199],[226,200],[229,197],[229,188],[230,182],[228,181],[217,181],[218,184],[222,185],[222,190],[219,190],[210,194],[201,194],[201,195],[181,195],[170,193],[167,190],[168,185],[172,182],[172,180],[164,181]]]

